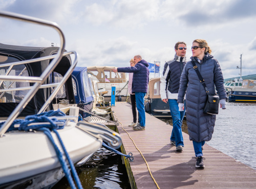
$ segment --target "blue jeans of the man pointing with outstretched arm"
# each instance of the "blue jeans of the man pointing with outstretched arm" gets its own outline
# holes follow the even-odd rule
[[[144,107],[144,97],[145,92],[135,92],[135,99],[137,110],[139,112],[139,123],[141,127],[145,127],[146,124],[146,114],[145,114],[145,107]]]

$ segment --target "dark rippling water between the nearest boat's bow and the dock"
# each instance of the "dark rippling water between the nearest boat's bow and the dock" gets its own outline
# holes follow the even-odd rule
[[[90,162],[76,168],[76,171],[83,188],[131,188],[121,156],[103,147],[93,155]],[[71,187],[65,177],[53,188]]]

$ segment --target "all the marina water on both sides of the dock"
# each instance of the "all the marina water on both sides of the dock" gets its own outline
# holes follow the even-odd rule
[[[219,110],[214,134],[207,144],[256,170],[256,103],[227,102],[226,108]],[[162,121],[173,124],[172,120]],[[187,133],[185,120],[182,131]],[[121,156],[104,148],[77,172],[84,188],[131,188]],[[70,187],[63,178],[53,188]]]

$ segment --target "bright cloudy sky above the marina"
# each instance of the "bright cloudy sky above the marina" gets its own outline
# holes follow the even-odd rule
[[[66,50],[77,51],[78,66],[129,66],[134,55],[147,62],[174,58],[177,41],[205,39],[224,78],[256,74],[254,0],[0,0],[0,10],[56,22]],[[59,45],[53,29],[0,18],[0,42]]]

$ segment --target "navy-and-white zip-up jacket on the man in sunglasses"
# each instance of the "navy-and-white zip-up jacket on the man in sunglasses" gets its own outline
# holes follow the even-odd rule
[[[186,57],[179,57],[175,54],[173,60],[164,64],[163,74],[160,78],[160,95],[162,100],[178,99],[180,77],[185,63]]]

